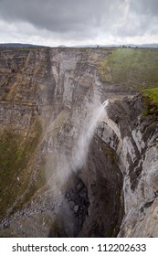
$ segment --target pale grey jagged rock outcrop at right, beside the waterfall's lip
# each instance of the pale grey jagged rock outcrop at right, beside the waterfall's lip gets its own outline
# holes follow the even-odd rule
[[[104,123],[102,139],[117,153],[123,175],[119,237],[157,237],[157,123],[142,117],[139,96],[113,102]]]

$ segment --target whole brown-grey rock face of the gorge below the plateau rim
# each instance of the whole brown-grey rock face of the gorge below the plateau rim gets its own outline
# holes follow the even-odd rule
[[[1,237],[158,237],[157,123],[111,51],[0,49]]]

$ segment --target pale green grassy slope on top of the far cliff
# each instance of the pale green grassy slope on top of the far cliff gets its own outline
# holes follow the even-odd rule
[[[98,65],[100,79],[136,90],[158,87],[157,48],[117,48]]]

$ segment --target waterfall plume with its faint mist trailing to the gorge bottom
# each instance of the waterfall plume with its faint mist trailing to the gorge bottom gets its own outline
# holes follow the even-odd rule
[[[65,189],[67,189],[67,183],[71,180],[72,173],[77,174],[86,164],[90,141],[108,104],[109,100],[104,101],[95,111],[92,111],[92,115],[90,115],[88,120],[79,128],[81,132],[78,135],[77,144],[75,144],[72,149],[71,157],[67,157],[65,154],[58,156],[54,175],[52,175],[49,180],[49,185],[54,197],[53,201],[57,202],[57,225],[59,225],[58,227],[61,233],[64,230],[69,237],[74,236],[78,231],[78,228],[76,228],[78,227],[78,219],[74,217],[74,213],[65,197]],[[93,107],[94,105],[93,103]],[[90,108],[88,115],[89,113]]]

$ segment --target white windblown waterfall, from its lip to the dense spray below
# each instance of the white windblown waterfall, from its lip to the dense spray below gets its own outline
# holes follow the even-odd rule
[[[50,156],[49,162],[47,162],[47,176],[50,176],[49,172],[52,169],[53,173],[51,178],[48,178],[48,185],[51,187],[54,197],[58,198],[58,202],[63,200],[61,188],[68,182],[72,172],[78,172],[86,164],[91,138],[108,103],[109,100],[104,101],[92,112],[88,120],[81,125],[77,142],[74,141],[71,155],[66,155],[63,152],[55,155],[54,158]],[[51,167],[52,165],[53,168]]]

